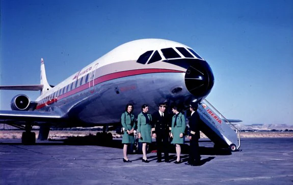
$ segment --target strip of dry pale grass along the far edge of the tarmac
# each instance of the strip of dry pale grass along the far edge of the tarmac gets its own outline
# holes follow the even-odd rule
[[[0,139],[21,139],[23,131],[20,130],[4,130],[0,131]],[[39,132],[35,131],[36,138]],[[97,131],[50,131],[49,138],[66,138],[66,137],[83,137],[88,135],[96,135]],[[112,133],[113,138],[122,138],[122,135]],[[293,132],[241,132],[241,138],[283,138],[293,137]],[[207,138],[203,133],[200,133],[200,138]]]

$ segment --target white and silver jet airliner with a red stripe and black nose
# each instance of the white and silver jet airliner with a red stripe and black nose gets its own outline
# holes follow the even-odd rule
[[[0,86],[9,90],[40,90],[36,101],[25,95],[12,99],[12,110],[0,111],[0,122],[25,130],[22,143],[36,141],[32,126],[40,126],[39,138],[47,139],[50,127],[94,127],[119,124],[127,103],[159,102],[189,105],[200,102],[214,85],[207,62],[189,46],[163,39],[125,43],[93,61],[56,86],[46,79],[41,59],[41,84]]]

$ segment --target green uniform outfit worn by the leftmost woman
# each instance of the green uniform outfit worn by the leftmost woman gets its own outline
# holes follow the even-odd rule
[[[121,115],[121,124],[122,124],[122,127],[124,128],[122,143],[123,144],[135,143],[134,134],[127,133],[127,130],[130,131],[131,129],[134,129],[136,127],[135,116],[125,111]]]

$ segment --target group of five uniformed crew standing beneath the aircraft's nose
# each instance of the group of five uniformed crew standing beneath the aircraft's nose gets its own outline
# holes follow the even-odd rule
[[[142,162],[149,163],[147,160],[147,145],[152,142],[152,137],[156,138],[157,145],[157,163],[162,162],[162,152],[166,163],[170,163],[169,159],[169,138],[172,138],[171,144],[176,146],[177,159],[175,164],[181,163],[181,144],[184,143],[184,132],[186,127],[185,116],[179,111],[179,108],[172,106],[172,121],[166,111],[166,103],[160,103],[158,111],[152,115],[148,113],[148,105],[142,106],[142,112],[138,115],[137,133],[139,142],[142,143],[143,159]],[[190,155],[186,165],[198,166],[200,163],[200,155],[198,152],[199,135],[199,115],[197,114],[198,104],[191,102],[190,110],[192,112],[189,118],[189,139],[190,139]],[[131,143],[135,143],[134,130],[136,128],[135,116],[132,114],[134,106],[127,104],[125,112],[121,115],[121,124],[124,128],[122,138],[123,145],[123,162],[131,163],[127,157],[127,147]]]

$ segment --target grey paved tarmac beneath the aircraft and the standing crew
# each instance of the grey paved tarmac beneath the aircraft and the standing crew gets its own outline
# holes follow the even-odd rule
[[[0,140],[0,184],[293,184],[293,138],[244,138],[241,150],[214,149],[200,139],[201,166],[190,166],[188,145],[183,163],[156,163],[156,153],[128,155],[123,163],[121,139],[110,146],[78,140]],[[92,143],[91,143],[92,144]]]

